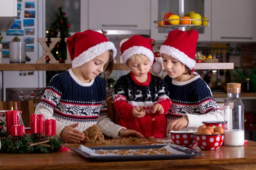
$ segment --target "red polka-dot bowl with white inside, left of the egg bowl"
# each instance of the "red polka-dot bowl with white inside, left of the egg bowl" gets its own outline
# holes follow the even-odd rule
[[[171,138],[174,144],[192,148],[195,145],[195,132],[171,131]]]

